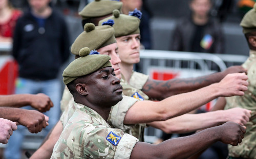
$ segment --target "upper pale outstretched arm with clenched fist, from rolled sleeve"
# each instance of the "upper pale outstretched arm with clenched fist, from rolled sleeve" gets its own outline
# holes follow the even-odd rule
[[[124,124],[163,121],[188,113],[218,96],[244,95],[248,82],[245,73],[228,74],[220,83],[168,97],[159,102],[138,101],[126,113]]]

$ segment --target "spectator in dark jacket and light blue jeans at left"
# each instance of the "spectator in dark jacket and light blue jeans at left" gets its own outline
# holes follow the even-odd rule
[[[51,129],[59,119],[61,65],[69,58],[69,36],[65,19],[50,7],[51,0],[28,0],[30,9],[17,21],[13,57],[19,65],[16,93],[45,93],[54,107],[46,113]],[[30,108],[28,108],[30,109]],[[23,128],[13,134],[6,158],[20,158]]]

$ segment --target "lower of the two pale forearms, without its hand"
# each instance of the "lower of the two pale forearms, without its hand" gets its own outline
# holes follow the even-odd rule
[[[226,122],[222,111],[200,113],[200,114],[184,114],[166,121],[155,121],[147,125],[159,128],[167,134],[172,133],[189,133],[198,129],[217,126]]]

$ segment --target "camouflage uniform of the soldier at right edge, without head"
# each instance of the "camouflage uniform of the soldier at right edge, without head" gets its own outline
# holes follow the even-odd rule
[[[252,113],[245,125],[246,134],[242,143],[238,146],[228,145],[228,151],[232,157],[256,158],[256,51],[250,50],[250,56],[242,66],[248,70],[248,90],[243,96],[227,97],[225,109],[240,107]]]

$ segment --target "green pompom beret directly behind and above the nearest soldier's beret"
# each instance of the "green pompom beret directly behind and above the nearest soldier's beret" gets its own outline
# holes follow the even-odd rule
[[[84,25],[82,32],[71,46],[71,52],[74,55],[79,55],[79,50],[83,47],[90,49],[98,49],[116,42],[114,29],[110,25],[95,26],[93,23]]]

